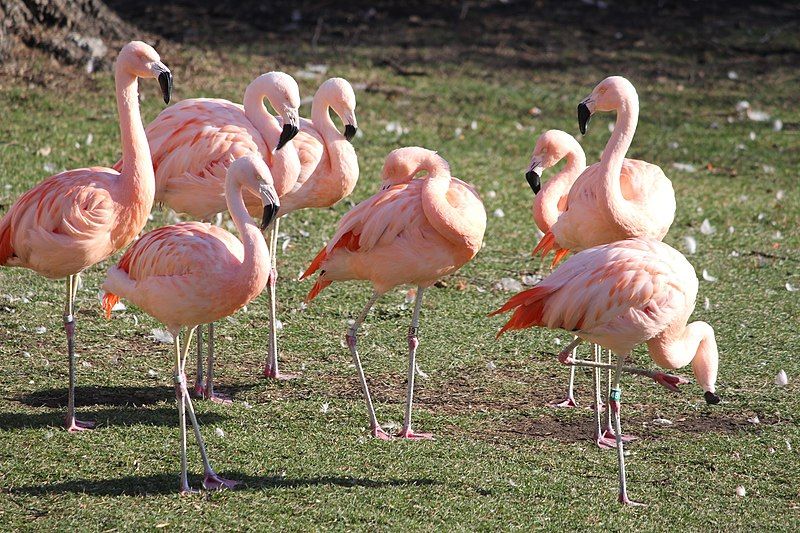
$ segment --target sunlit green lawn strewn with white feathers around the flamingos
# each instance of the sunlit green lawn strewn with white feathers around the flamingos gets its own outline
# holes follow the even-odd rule
[[[726,38],[755,41],[750,34]],[[789,44],[796,47],[793,38]],[[446,286],[427,292],[422,312],[418,361],[428,378],[418,379],[415,426],[433,431],[437,440],[383,443],[366,437],[360,389],[342,340],[347,320],[369,295],[367,285],[334,285],[299,309],[310,283],[296,282],[296,275],[332,235],[348,201],[292,215],[282,225],[291,240],[279,256],[281,357],[284,368],[301,378],[259,378],[267,342],[265,297],[219,324],[219,387],[235,402],[196,407],[215,468],[244,482],[235,491],[175,494],[179,456],[170,347],[151,339],[160,325],[138,309],[115,313],[111,321],[101,318],[97,293],[109,263],[86,273],[78,296],[79,412],[100,423],[80,435],[59,427],[67,382],[63,284],[2,269],[4,529],[794,529],[800,508],[800,292],[789,292],[786,284],[800,287],[796,83],[781,65],[765,69],[756,59],[728,58],[698,67],[685,54],[648,42],[598,55],[598,65],[535,72],[524,64],[493,69],[474,55],[457,61],[445,44],[448,59],[442,61],[426,55],[435,47],[419,55],[372,46],[345,55],[305,45],[285,45],[270,55],[259,46],[162,53],[175,66],[177,98],[239,100],[246,83],[274,64],[297,73],[307,62],[324,63],[328,75],[360,84],[364,135],[355,144],[361,179],[352,201],[377,189],[383,157],[403,145],[438,150],[455,175],[483,194],[490,215],[484,249]],[[399,54],[427,75],[401,76],[380,64],[381,54]],[[580,55],[579,49],[565,50],[565,57]],[[195,63],[198,57],[202,61]],[[728,78],[732,69],[738,80]],[[485,316],[510,296],[494,290],[495,281],[547,272],[529,258],[532,196],[522,174],[535,137],[549,128],[576,132],[575,104],[616,72],[632,79],[642,101],[630,156],[660,165],[673,180],[678,212],[666,241],[683,249],[684,236],[696,237],[697,253],[689,260],[698,274],[706,269],[718,278],[701,280],[693,316],[716,329],[724,399],[709,408],[696,385],[675,395],[626,380],[623,425],[642,437],[627,448],[630,490],[650,504],[637,509],[614,503],[616,457],[593,445],[591,412],[546,406],[563,393],[566,373],[555,362],[555,340],[563,343],[569,335],[529,330],[495,341],[501,321]],[[3,210],[52,173],[45,164],[59,170],[116,160],[109,78],[98,74],[85,89],[65,91],[4,81]],[[302,94],[313,94],[322,79],[298,77]],[[161,108],[156,85],[144,82],[143,93],[143,114],[152,119]],[[740,100],[780,118],[783,130],[740,117]],[[533,106],[541,113],[530,114]],[[302,111],[307,115],[308,106]],[[612,118],[596,117],[581,140],[590,161],[604,146]],[[409,131],[401,137],[386,131],[390,121]],[[675,162],[696,171],[678,170]],[[505,216],[493,216],[497,209]],[[165,223],[162,213],[154,217],[148,229]],[[700,233],[704,219],[716,233]],[[379,420],[396,424],[402,420],[410,321],[404,291],[379,302],[360,341]],[[635,359],[649,364],[643,350]],[[790,378],[784,388],[773,384],[780,369]],[[690,376],[690,369],[680,373]],[[579,372],[577,379],[578,399],[586,405],[588,374]],[[748,421],[755,416],[760,423]],[[673,425],[655,425],[657,417]],[[192,482],[199,486],[199,457],[191,443],[190,451]],[[739,485],[745,497],[736,496]]]

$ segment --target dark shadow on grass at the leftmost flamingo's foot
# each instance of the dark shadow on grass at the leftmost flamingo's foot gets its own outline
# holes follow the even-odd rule
[[[0,428],[45,428],[58,427],[64,423],[66,410],[50,413],[0,413]],[[198,413],[200,424],[214,424],[227,419],[215,413]],[[102,431],[109,426],[176,426],[178,425],[178,411],[175,407],[160,407],[157,409],[82,409],[78,411],[81,420],[94,420],[97,422],[97,431]]]

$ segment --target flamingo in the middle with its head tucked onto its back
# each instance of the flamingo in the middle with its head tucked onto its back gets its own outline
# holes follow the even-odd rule
[[[427,175],[415,179],[420,172]],[[301,279],[321,269],[306,301],[313,300],[333,281],[372,282],[372,297],[348,329],[346,338],[367,403],[372,436],[383,440],[390,437],[375,416],[356,350],[356,333],[382,294],[397,285],[417,285],[408,330],[405,418],[397,436],[432,438],[411,429],[422,295],[437,279],[455,272],[475,257],[483,242],[486,211],[475,190],[450,175],[447,161],[424,148],[399,148],[391,152],[383,166],[382,178],[380,192],[342,218],[333,239],[320,250]]]

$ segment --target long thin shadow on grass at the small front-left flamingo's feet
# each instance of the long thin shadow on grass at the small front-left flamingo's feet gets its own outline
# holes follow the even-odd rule
[[[315,487],[334,485],[339,487],[365,487],[371,489],[385,487],[429,486],[437,484],[427,478],[374,480],[368,478],[320,476],[311,478],[287,478],[281,476],[250,476],[242,472],[223,472],[224,477],[235,479],[241,485],[236,491],[262,489],[293,489],[298,487]],[[179,476],[175,474],[158,474],[153,476],[126,476],[114,479],[86,480],[76,479],[63,483],[48,485],[29,485],[15,487],[13,494],[41,496],[44,494],[89,494],[92,496],[147,496],[172,494],[178,492]],[[190,485],[201,486],[199,476],[190,476]]]

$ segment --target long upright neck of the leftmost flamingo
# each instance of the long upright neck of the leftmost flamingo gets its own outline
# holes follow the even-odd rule
[[[122,140],[123,189],[129,198],[140,198],[144,192],[155,194],[155,177],[153,161],[150,157],[150,146],[142,125],[139,113],[138,78],[127,72],[121,63],[117,64],[114,74],[117,92],[117,112],[119,113],[119,131]],[[123,203],[122,201],[120,203]]]

